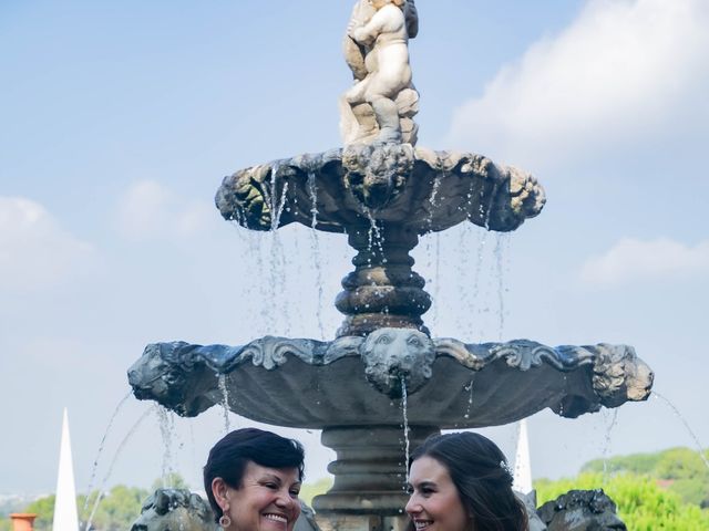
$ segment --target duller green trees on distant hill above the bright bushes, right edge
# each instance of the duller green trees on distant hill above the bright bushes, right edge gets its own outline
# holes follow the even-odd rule
[[[705,452],[709,459],[709,451]],[[709,507],[709,468],[698,451],[670,448],[657,454],[634,454],[587,462],[582,472],[634,473],[667,480],[666,487],[685,503]]]

